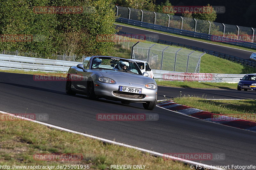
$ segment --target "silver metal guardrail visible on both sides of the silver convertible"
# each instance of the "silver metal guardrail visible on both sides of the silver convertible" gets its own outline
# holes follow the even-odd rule
[[[24,57],[17,55],[0,54],[0,70],[34,70],[34,71],[61,71],[67,72],[70,66],[80,64],[62,60]],[[183,73],[165,70],[153,70],[155,79],[169,81],[207,81],[236,83],[245,74],[215,74],[215,73]]]

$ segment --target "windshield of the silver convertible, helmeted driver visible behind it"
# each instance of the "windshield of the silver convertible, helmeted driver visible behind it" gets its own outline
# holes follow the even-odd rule
[[[135,62],[116,57],[95,57],[92,60],[91,69],[116,70],[142,75]]]

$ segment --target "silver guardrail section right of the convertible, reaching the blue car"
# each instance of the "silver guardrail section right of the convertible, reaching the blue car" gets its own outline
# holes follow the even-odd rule
[[[238,83],[246,74],[216,74],[216,73],[184,73],[175,71],[152,70],[155,79],[169,81],[204,81]]]

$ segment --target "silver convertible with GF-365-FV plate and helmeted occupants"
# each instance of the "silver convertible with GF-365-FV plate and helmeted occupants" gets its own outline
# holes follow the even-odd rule
[[[92,100],[105,98],[123,104],[138,102],[145,109],[153,110],[157,101],[157,85],[154,79],[145,76],[148,73],[141,73],[138,65],[129,59],[87,57],[83,64],[69,68],[66,92],[86,94]]]

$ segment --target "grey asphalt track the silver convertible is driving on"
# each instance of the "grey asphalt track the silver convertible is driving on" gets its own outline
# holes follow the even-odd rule
[[[48,114],[45,123],[115,140],[161,153],[224,153],[224,160],[203,160],[208,165],[255,165],[254,132],[180,115],[156,107],[65,93],[65,81],[34,81],[33,75],[0,72],[0,110],[8,113]],[[180,91],[207,98],[254,98],[253,91],[200,90],[158,87],[159,99]],[[158,121],[97,121],[99,113],[156,113]]]

